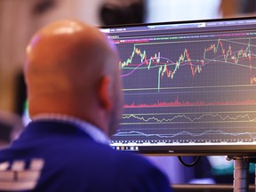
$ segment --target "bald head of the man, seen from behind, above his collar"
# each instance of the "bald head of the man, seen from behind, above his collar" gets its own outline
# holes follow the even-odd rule
[[[42,28],[28,44],[24,71],[32,118],[76,116],[113,133],[122,106],[118,57],[97,28],[76,20]]]

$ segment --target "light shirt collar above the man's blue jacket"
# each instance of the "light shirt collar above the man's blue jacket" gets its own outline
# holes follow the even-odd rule
[[[93,124],[85,122],[82,119],[76,118],[75,116],[67,116],[61,114],[40,114],[33,116],[32,119],[33,122],[42,120],[54,120],[63,123],[74,124],[76,125],[76,127],[80,128],[82,131],[89,134],[92,137],[92,139],[95,140],[96,142],[109,145],[108,136],[104,132],[102,132],[100,128],[94,126]]]

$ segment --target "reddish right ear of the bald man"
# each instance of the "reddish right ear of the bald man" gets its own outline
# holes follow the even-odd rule
[[[112,78],[110,76],[103,76],[100,80],[100,105],[102,108],[110,110],[113,108],[113,97],[112,97]]]

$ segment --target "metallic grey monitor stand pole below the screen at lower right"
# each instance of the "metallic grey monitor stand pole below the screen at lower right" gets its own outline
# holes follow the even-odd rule
[[[227,160],[234,160],[234,192],[249,191],[249,163],[256,163],[256,156],[228,156]],[[255,180],[256,183],[256,180]]]

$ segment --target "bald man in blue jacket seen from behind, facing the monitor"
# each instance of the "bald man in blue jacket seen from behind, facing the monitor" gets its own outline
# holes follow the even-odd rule
[[[171,191],[145,158],[108,145],[122,85],[116,48],[97,28],[75,20],[42,28],[24,72],[32,122],[0,151],[0,190]]]

